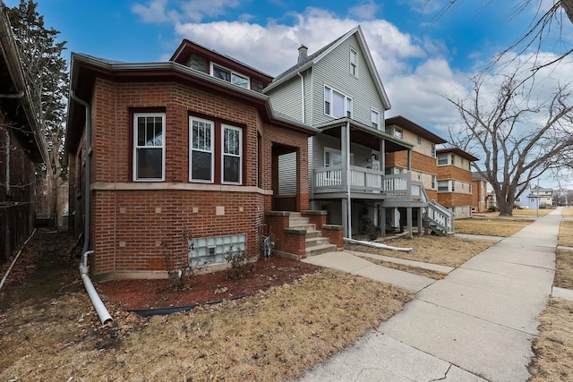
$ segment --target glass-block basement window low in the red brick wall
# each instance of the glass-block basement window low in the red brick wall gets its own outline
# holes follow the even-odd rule
[[[245,250],[246,242],[246,233],[195,239],[192,250],[189,251],[189,264],[192,267],[201,267],[224,263],[230,251]]]

